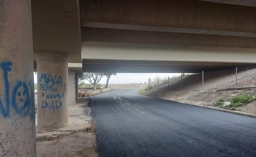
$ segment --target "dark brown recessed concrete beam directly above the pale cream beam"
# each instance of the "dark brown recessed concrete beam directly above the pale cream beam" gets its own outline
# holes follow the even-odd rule
[[[135,31],[124,29],[104,29],[82,27],[82,40],[96,42],[119,42],[138,44],[158,44],[169,46],[222,46],[256,48],[256,38],[171,33],[157,31]]]

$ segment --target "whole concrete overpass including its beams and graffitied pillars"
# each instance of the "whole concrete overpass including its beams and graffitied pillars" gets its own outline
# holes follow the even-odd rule
[[[1,155],[36,155],[34,70],[38,127],[59,128],[82,71],[255,66],[255,15],[254,0],[2,0]]]

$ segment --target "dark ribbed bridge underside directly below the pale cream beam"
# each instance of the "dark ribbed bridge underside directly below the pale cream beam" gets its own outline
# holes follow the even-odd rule
[[[83,72],[116,73],[199,73],[255,66],[242,63],[178,62],[153,60],[83,59]]]

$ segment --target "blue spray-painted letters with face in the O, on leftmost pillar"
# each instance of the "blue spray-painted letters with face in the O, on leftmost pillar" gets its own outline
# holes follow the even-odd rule
[[[0,98],[0,114],[7,118],[10,116],[11,106],[15,113],[21,117],[26,117],[30,114],[30,119],[34,119],[34,82],[30,81],[29,86],[23,81],[17,81],[12,91],[8,73],[11,72],[11,62],[0,63],[0,70],[3,75],[5,85],[5,99]]]

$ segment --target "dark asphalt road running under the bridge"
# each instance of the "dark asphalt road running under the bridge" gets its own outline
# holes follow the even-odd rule
[[[114,89],[90,97],[100,157],[256,157],[256,119]]]

